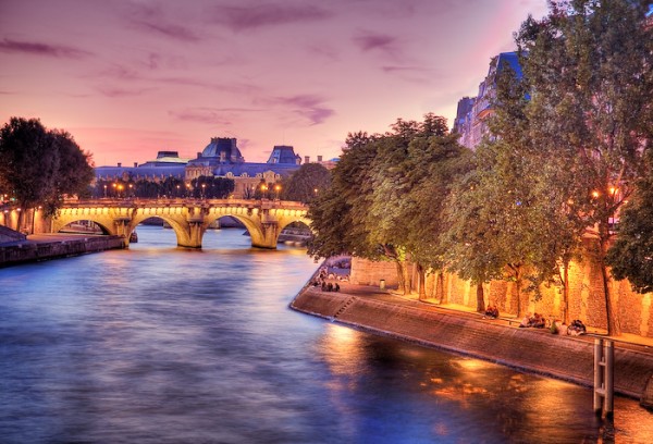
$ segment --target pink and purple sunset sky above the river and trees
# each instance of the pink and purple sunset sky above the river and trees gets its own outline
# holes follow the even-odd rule
[[[0,0],[0,124],[65,130],[97,166],[235,137],[340,156],[348,133],[449,123],[546,0]]]

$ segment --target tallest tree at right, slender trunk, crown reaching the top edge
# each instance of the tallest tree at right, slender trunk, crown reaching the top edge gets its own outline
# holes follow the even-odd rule
[[[609,291],[606,254],[613,218],[642,174],[653,113],[653,36],[644,20],[648,2],[552,1],[549,16],[529,17],[517,34],[529,82],[530,136],[570,161],[592,196],[586,213],[596,239],[607,330],[620,334]],[[552,151],[550,151],[552,152]]]

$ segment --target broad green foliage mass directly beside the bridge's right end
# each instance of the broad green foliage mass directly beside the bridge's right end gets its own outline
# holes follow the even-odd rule
[[[442,269],[443,202],[469,151],[434,114],[423,122],[399,119],[392,130],[349,134],[331,188],[311,203],[309,254],[399,264],[409,258],[420,270]]]

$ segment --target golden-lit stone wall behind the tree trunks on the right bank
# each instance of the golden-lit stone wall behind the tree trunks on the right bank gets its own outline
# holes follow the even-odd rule
[[[365,259],[352,259],[352,278],[354,284],[379,285],[385,280],[386,286],[396,288],[396,268],[393,262],[371,262]],[[408,279],[417,286],[415,267],[408,266]],[[476,287],[455,274],[445,273],[443,292],[436,291],[435,275],[427,276],[426,294],[442,304],[457,304],[476,308]],[[607,328],[605,298],[601,269],[590,259],[572,262],[569,269],[569,319],[580,319],[586,325],[595,329]],[[630,288],[628,281],[611,281],[611,292],[619,310],[619,320],[624,333],[653,337],[653,294],[638,294]],[[517,291],[515,283],[493,281],[483,286],[485,305],[496,305],[502,314],[517,314]],[[534,301],[533,295],[522,291],[521,312],[538,312],[544,317],[562,319],[563,295],[555,287],[543,286],[542,299]]]

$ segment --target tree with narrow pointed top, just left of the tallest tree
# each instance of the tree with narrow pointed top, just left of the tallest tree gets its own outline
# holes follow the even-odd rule
[[[528,69],[528,54],[520,59]],[[485,205],[501,209],[493,220],[503,221],[498,230],[504,240],[493,245],[507,248],[495,252],[508,260],[505,278],[516,284],[518,314],[525,281],[534,300],[541,297],[541,284],[553,283],[563,294],[563,318],[568,323],[568,270],[571,259],[579,258],[590,223],[590,194],[577,174],[574,150],[554,138],[559,134],[547,138],[538,132],[546,123],[533,112],[539,98],[531,100],[532,89],[528,75],[518,78],[507,63],[497,67],[494,115],[489,120],[494,140],[486,140],[485,147],[493,153],[483,161],[485,166],[494,163],[483,170],[490,176],[476,192],[498,198],[486,199]]]

